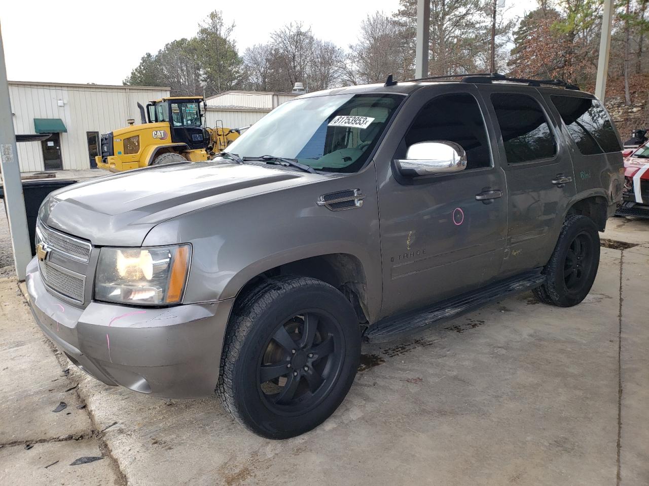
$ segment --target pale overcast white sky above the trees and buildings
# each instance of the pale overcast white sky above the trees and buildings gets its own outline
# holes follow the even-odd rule
[[[535,0],[506,0],[506,17],[523,16]],[[265,43],[282,25],[302,22],[316,37],[347,48],[369,13],[396,12],[398,0],[200,1],[2,0],[0,26],[7,76],[13,81],[122,84],[145,52],[191,37],[212,10],[234,21],[234,40]],[[186,5],[186,10],[182,6]]]

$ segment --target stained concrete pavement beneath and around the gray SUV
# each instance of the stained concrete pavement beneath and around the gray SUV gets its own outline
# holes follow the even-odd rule
[[[624,241],[626,228],[613,229]],[[0,287],[15,289],[8,281]],[[316,430],[287,441],[246,432],[216,399],[164,402],[104,386],[73,368],[65,379],[79,382],[75,391],[93,417],[92,428],[117,422],[101,441],[131,486],[644,485],[647,288],[649,244],[602,248],[593,290],[577,307],[550,307],[523,294],[412,340],[365,346],[362,371],[339,410]],[[6,295],[2,300],[11,309],[0,318],[5,329],[24,304]],[[12,327],[14,341],[38,334],[29,319],[22,326],[27,329]],[[51,356],[43,353],[34,349],[4,366],[24,366],[36,375],[36,367],[51,367]],[[2,382],[3,397],[31,379],[20,376],[20,383]],[[34,389],[25,410],[42,407],[40,395],[56,393],[56,403],[66,396],[45,386]],[[17,428],[36,434],[36,424],[20,419],[12,419]],[[74,426],[84,430],[84,423]],[[66,430],[77,430],[69,425]],[[2,474],[26,457],[12,446],[14,456],[5,458],[5,448],[0,483],[16,478]],[[38,469],[24,459],[20,464]]]

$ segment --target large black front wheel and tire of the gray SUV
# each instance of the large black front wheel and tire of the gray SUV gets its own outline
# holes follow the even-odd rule
[[[235,305],[216,393],[255,434],[295,437],[345,399],[360,349],[358,318],[336,288],[310,277],[269,279]]]

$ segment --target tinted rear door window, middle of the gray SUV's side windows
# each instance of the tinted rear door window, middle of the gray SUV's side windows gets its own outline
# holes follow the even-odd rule
[[[491,103],[510,164],[549,159],[557,144],[539,103],[527,95],[493,93]]]

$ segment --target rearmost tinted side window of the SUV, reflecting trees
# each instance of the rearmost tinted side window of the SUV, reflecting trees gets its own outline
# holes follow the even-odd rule
[[[598,100],[572,96],[550,98],[582,154],[590,156],[622,150],[606,110]]]

